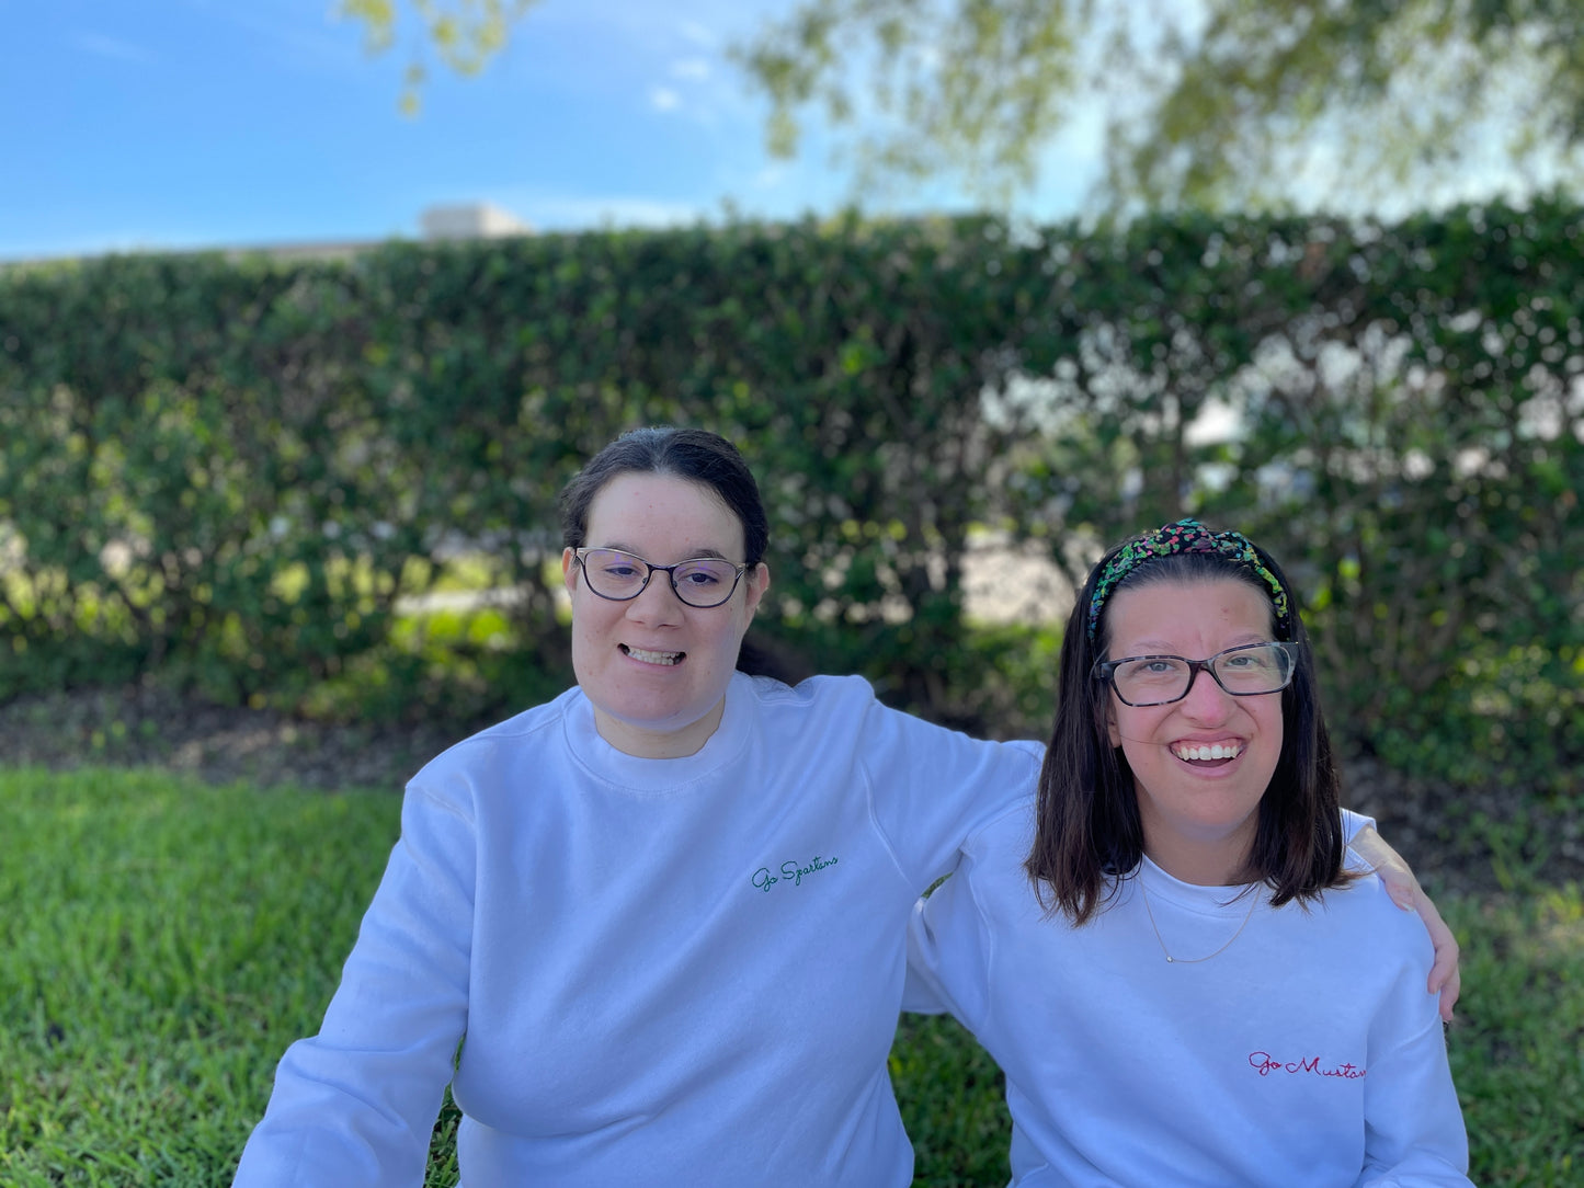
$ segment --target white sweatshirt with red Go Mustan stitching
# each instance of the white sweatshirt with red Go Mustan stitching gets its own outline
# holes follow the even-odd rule
[[[1014,1185],[1468,1186],[1430,941],[1373,874],[1272,909],[1145,859],[1074,928],[1042,916],[1031,836],[1030,802],[968,840],[914,914],[904,1001],[1006,1072]]]

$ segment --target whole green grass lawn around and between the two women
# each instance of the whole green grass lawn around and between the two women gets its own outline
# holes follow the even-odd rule
[[[230,1183],[398,809],[388,792],[0,768],[0,1183]],[[1440,906],[1464,946],[1451,1055],[1475,1182],[1584,1183],[1579,890]],[[998,1074],[961,1028],[904,1017],[892,1074],[917,1185],[1006,1182]],[[453,1126],[447,1110],[429,1185],[456,1180]]]

